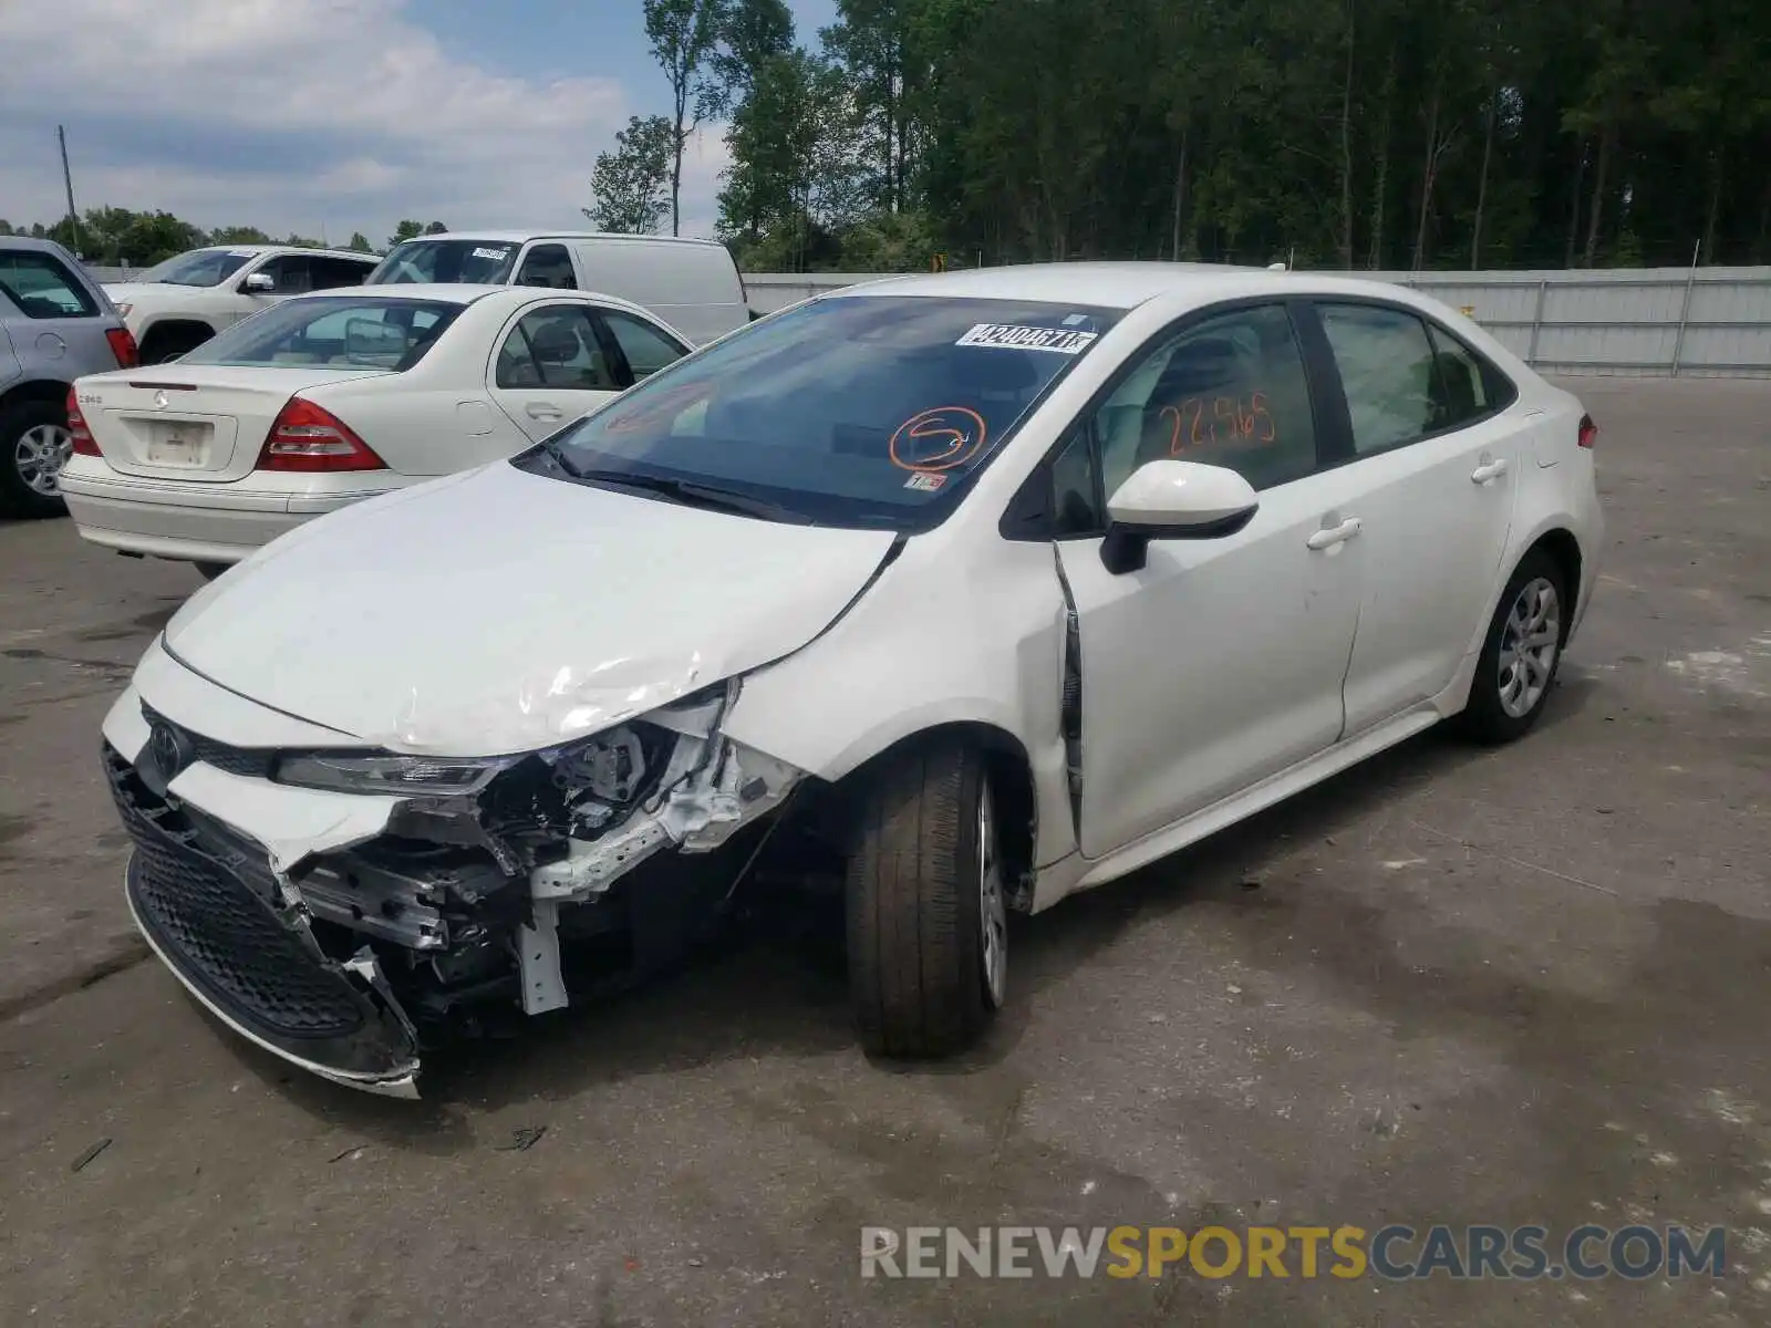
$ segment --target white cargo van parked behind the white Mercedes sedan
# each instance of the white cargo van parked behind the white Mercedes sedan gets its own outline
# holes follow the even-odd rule
[[[590,230],[448,230],[395,244],[365,285],[450,282],[599,290],[630,299],[696,345],[751,320],[724,244]]]

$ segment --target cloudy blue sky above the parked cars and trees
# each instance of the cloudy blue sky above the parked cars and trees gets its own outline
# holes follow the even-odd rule
[[[836,0],[788,0],[800,41]],[[0,218],[81,209],[205,227],[583,225],[590,168],[629,115],[668,110],[639,0],[0,0]],[[710,234],[723,126],[684,166]]]

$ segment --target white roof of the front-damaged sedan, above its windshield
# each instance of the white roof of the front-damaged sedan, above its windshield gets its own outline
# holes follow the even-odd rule
[[[843,287],[831,297],[944,296],[947,299],[1034,299],[1130,310],[1169,294],[1231,299],[1298,289],[1298,274],[1206,262],[1048,262],[900,276]]]

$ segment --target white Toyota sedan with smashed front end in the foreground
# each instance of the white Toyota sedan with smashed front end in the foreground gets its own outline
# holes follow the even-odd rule
[[[285,535],[104,721],[128,898],[328,1078],[841,889],[861,1039],[937,1055],[1047,908],[1456,717],[1525,733],[1596,430],[1408,290],[1181,266],[880,282],[515,459]]]

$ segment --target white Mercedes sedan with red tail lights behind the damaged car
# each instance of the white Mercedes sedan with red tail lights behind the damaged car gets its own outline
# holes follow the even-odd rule
[[[298,296],[175,361],[78,379],[62,494],[94,544],[214,577],[315,515],[508,457],[687,349],[574,290]]]

